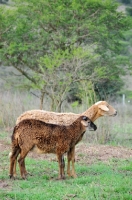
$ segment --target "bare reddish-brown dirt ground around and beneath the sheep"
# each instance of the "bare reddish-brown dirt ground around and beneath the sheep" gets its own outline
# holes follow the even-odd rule
[[[10,144],[6,140],[0,140],[0,152],[10,152]],[[47,159],[56,162],[56,156],[52,154],[37,154],[30,152],[28,157],[34,159]],[[93,164],[98,161],[108,162],[112,158],[129,159],[132,157],[132,149],[110,146],[110,145],[91,145],[84,142],[79,143],[76,146],[76,162],[79,164]],[[4,169],[0,165],[0,172]],[[0,188],[10,188],[8,182],[0,180]]]

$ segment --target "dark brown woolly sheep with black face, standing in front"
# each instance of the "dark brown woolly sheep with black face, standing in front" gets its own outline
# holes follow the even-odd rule
[[[13,168],[18,155],[21,177],[26,178],[25,157],[37,148],[43,153],[57,154],[59,179],[64,179],[63,154],[76,145],[86,128],[96,130],[96,125],[86,116],[80,116],[71,125],[48,124],[36,119],[25,119],[14,127],[12,134],[12,154],[10,156],[10,178],[15,178]]]

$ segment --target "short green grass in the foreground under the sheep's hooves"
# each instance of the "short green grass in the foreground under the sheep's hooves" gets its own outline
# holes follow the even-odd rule
[[[76,164],[78,178],[56,180],[58,163],[26,158],[27,180],[10,180],[8,152],[2,152],[0,187],[1,200],[132,200],[132,159],[113,159],[107,163]],[[19,170],[17,170],[19,171]]]

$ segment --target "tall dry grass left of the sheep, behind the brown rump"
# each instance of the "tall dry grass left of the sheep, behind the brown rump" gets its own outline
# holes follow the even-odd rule
[[[11,129],[21,113],[36,108],[39,108],[37,97],[28,93],[0,93],[0,127]]]

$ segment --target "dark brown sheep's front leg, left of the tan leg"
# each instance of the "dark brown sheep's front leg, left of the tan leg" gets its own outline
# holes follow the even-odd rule
[[[57,155],[58,164],[59,164],[59,179],[65,179],[64,168],[65,168],[65,161],[64,156]]]

